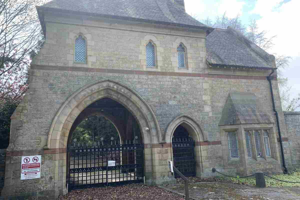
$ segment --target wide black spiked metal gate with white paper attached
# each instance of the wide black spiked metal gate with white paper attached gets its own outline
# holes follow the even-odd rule
[[[118,143],[68,146],[68,190],[143,182],[143,144]]]

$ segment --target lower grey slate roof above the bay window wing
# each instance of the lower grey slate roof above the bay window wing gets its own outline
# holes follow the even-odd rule
[[[209,64],[244,67],[272,67],[227,29],[215,29],[206,37]]]

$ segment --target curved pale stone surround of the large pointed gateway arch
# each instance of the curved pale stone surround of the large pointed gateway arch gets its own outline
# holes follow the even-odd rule
[[[147,139],[144,142],[162,142],[158,122],[146,101],[131,88],[114,80],[105,79],[85,85],[64,102],[52,121],[45,148],[65,148],[66,138],[79,114],[91,103],[105,97],[116,100],[132,112],[141,127],[143,138]],[[146,130],[146,127],[149,130]],[[148,134],[151,141],[148,141]]]

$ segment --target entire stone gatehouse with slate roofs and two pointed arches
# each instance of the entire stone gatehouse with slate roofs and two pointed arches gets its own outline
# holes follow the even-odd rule
[[[93,114],[114,124],[121,147],[139,140],[142,162],[126,161],[138,150],[119,152],[120,165],[135,166],[118,173],[149,185],[174,183],[168,161],[182,157],[193,163],[187,175],[198,177],[213,176],[211,168],[250,175],[300,166],[300,114],[282,112],[274,56],[233,28],[198,22],[184,0],[53,0],[37,11],[46,43],[11,117],[2,198],[66,194],[71,173],[79,176],[70,167],[80,160],[69,148],[72,133]],[[92,146],[86,150],[100,143]],[[20,180],[21,157],[34,155],[41,178]],[[106,163],[102,156],[94,164]],[[94,168],[84,173],[95,178],[103,169]]]

